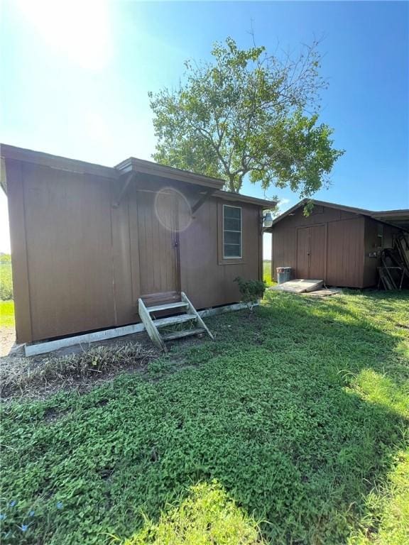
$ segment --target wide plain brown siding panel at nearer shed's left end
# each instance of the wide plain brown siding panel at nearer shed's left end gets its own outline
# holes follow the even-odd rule
[[[33,339],[114,324],[109,180],[30,163],[23,180]]]

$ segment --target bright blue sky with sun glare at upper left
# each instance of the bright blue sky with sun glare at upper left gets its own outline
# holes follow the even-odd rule
[[[320,119],[345,150],[315,198],[409,208],[409,4],[393,1],[0,0],[0,142],[102,165],[151,159],[148,91],[175,87],[186,59],[231,36],[295,55],[322,38]],[[1,190],[0,190],[1,191]],[[298,194],[245,182],[244,194]],[[0,251],[10,251],[0,194]],[[270,253],[270,238],[264,245]]]

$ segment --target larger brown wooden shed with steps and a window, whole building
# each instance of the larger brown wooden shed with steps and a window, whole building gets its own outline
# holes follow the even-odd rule
[[[104,167],[1,145],[19,343],[139,321],[138,298],[239,301],[262,277],[262,211],[214,178],[130,158]]]

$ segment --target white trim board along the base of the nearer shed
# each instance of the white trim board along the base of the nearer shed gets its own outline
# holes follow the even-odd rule
[[[245,309],[247,305],[245,303],[227,304],[224,307],[217,307],[214,309],[200,310],[198,314],[202,318],[207,316],[216,316],[217,314],[224,314],[225,312],[234,312],[236,310]],[[145,331],[143,324],[132,324],[131,326],[116,327],[114,329],[105,329],[104,331],[95,331],[94,333],[86,333],[82,335],[75,335],[72,337],[58,338],[55,341],[44,341],[35,344],[26,344],[24,346],[24,352],[26,356],[38,356],[39,354],[45,354],[59,350],[60,348],[67,348],[67,346],[75,346],[76,344],[89,344],[97,341],[107,341],[109,338],[123,337],[126,335],[132,335],[135,333],[141,333]]]

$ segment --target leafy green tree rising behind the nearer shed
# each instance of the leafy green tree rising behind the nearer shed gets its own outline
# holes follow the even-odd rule
[[[149,93],[158,163],[219,177],[239,192],[244,177],[309,197],[328,183],[344,152],[332,147],[332,128],[318,124],[317,42],[293,60],[232,38],[216,43],[212,62],[185,62],[178,89]]]

